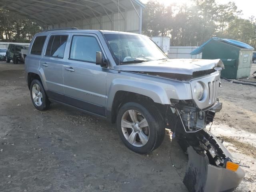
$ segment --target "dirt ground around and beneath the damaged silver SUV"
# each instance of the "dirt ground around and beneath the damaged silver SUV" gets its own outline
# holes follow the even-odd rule
[[[211,127],[246,171],[236,192],[256,191],[255,93],[223,80]],[[188,159],[171,136],[166,130],[157,150],[136,154],[105,120],[60,104],[36,110],[24,65],[0,62],[0,192],[187,192]]]

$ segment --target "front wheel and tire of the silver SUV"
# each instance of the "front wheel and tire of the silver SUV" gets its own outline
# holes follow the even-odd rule
[[[164,120],[157,108],[149,104],[124,104],[119,109],[116,121],[122,142],[136,153],[149,153],[164,140]]]

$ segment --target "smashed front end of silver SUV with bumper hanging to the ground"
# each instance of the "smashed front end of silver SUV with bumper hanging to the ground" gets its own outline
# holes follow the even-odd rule
[[[188,154],[184,184],[189,192],[231,192],[244,178],[239,167],[222,142],[206,125],[213,122],[222,108],[218,99],[204,109],[194,100],[171,100],[170,127],[181,148]]]

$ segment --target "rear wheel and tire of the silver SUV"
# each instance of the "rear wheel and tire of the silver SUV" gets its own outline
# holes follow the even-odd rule
[[[49,101],[42,83],[38,79],[34,79],[30,85],[30,97],[35,108],[42,111],[50,108]]]

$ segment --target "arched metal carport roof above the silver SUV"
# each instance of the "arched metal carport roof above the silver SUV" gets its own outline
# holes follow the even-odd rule
[[[96,18],[144,8],[139,0],[0,0],[2,8],[44,25]],[[137,12],[137,11],[136,11]],[[137,12],[138,14],[138,12]],[[110,16],[109,16],[110,17]]]

